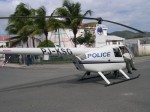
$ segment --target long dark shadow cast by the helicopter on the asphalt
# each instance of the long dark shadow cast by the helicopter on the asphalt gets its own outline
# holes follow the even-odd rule
[[[42,88],[46,86],[57,86],[62,88],[73,88],[80,85],[87,85],[89,83],[100,84],[106,86],[106,82],[98,75],[98,73],[92,73],[90,76],[87,76],[85,79],[81,80],[83,74],[74,74],[71,76],[63,76],[57,78],[51,78],[47,80],[35,81],[31,83],[24,83],[14,86],[9,86],[5,88],[1,88],[0,92],[6,91],[15,91],[15,90],[23,90],[23,89],[32,89],[32,88]],[[117,78],[113,73],[105,74],[108,80],[123,80],[122,76],[118,76]]]

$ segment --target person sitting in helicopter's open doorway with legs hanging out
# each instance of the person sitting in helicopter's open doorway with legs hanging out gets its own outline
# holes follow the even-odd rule
[[[126,62],[126,68],[129,74],[132,74],[130,67],[132,70],[137,70],[134,66],[133,59],[125,47],[120,48],[123,54],[124,61]]]

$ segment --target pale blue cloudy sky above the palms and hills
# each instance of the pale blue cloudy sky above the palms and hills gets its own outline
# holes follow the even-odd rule
[[[142,31],[150,32],[150,0],[71,0],[81,3],[81,10],[92,10],[90,17],[102,17],[105,20],[120,22]],[[0,17],[13,14],[19,3],[28,4],[32,8],[45,6],[47,15],[62,6],[63,0],[0,0]],[[0,20],[0,35],[8,35],[5,31],[8,20]],[[89,22],[89,21],[85,21]],[[103,22],[108,32],[130,30],[112,23]],[[132,30],[131,30],[132,31]]]

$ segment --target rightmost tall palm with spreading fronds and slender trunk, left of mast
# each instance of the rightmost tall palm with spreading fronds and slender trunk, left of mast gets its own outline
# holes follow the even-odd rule
[[[74,3],[69,0],[64,0],[63,5],[60,8],[55,10],[55,14],[58,16],[67,16],[66,25],[68,25],[74,34],[75,47],[76,47],[76,34],[78,30],[78,26],[82,22],[82,18],[69,18],[69,17],[85,17],[86,15],[91,15],[92,11],[87,10],[84,14],[81,13],[81,4],[79,2]]]

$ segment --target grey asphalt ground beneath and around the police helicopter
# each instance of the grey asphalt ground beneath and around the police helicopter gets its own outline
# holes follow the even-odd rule
[[[150,57],[135,66],[138,79],[108,87],[100,77],[79,81],[73,64],[0,68],[0,112],[150,112]]]

